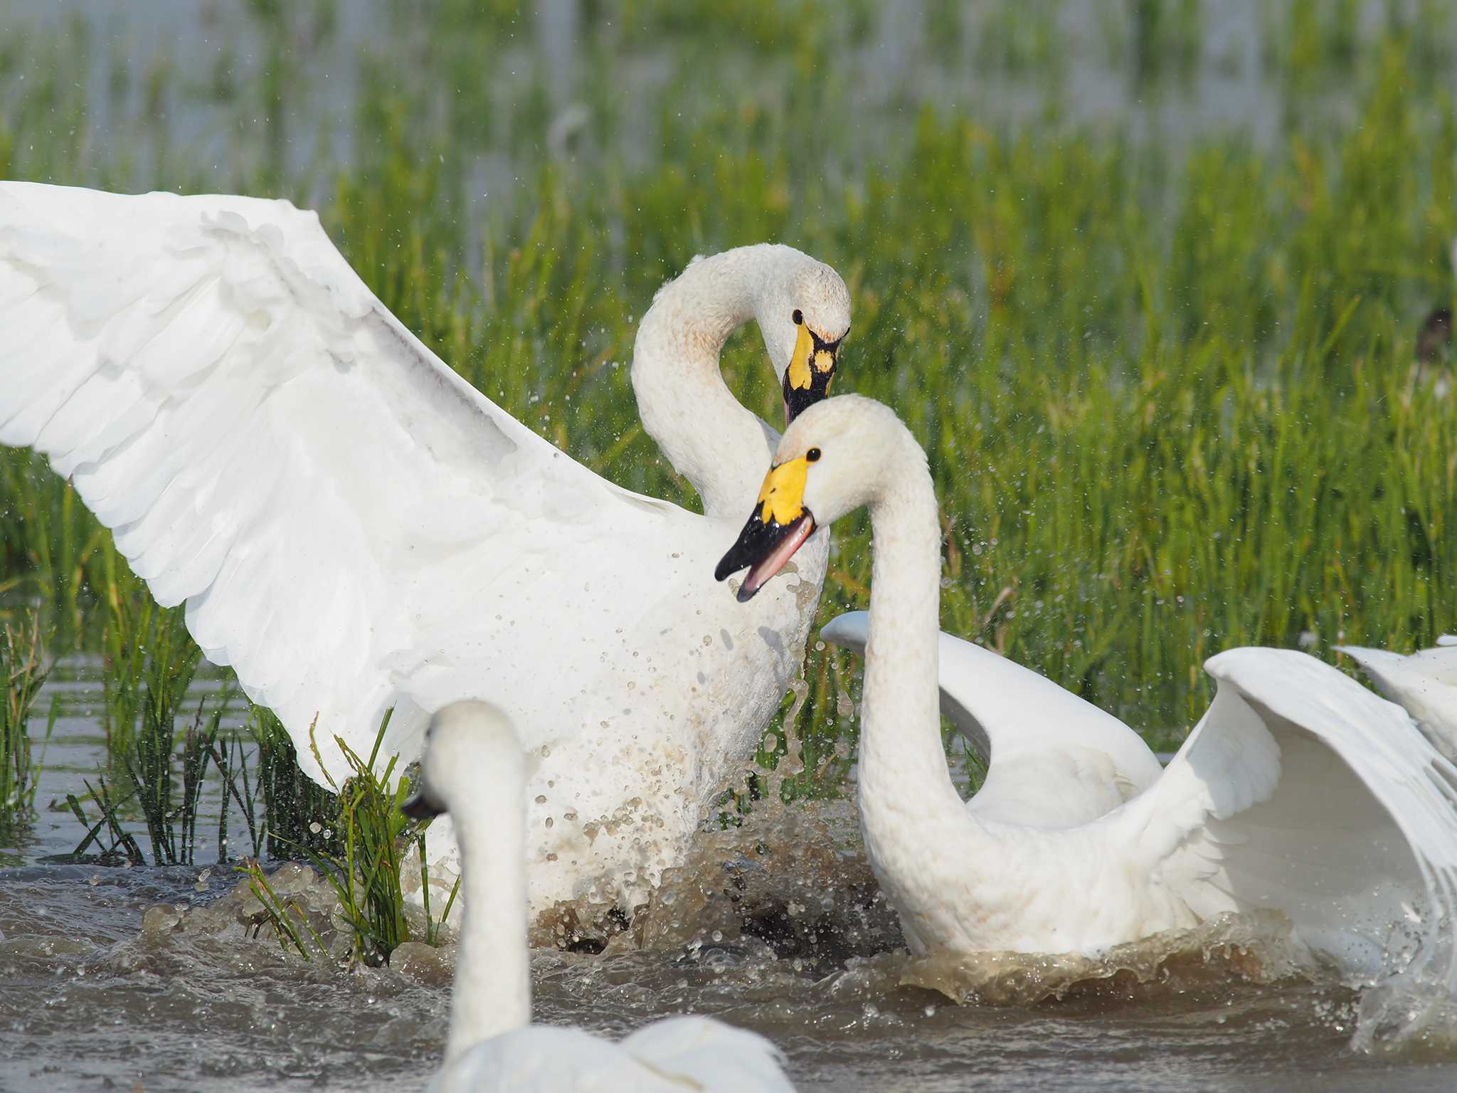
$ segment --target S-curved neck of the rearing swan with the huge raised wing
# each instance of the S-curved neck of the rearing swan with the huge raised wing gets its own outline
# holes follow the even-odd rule
[[[779,439],[739,405],[718,370],[728,335],[758,318],[774,261],[771,246],[702,258],[657,294],[638,326],[638,415],[673,469],[692,482],[707,516],[742,516]]]

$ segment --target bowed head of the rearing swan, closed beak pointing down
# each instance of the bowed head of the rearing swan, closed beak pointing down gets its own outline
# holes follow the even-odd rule
[[[849,334],[849,289],[825,262],[788,246],[777,249],[784,261],[761,293],[758,318],[779,373],[788,426],[829,395],[839,345]]]

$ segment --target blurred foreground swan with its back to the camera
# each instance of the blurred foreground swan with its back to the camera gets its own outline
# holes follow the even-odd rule
[[[455,702],[430,724],[420,793],[405,804],[417,818],[455,818],[463,870],[450,1036],[431,1089],[793,1093],[769,1041],[711,1017],[670,1017],[621,1043],[530,1023],[526,767],[511,723],[495,707]]]

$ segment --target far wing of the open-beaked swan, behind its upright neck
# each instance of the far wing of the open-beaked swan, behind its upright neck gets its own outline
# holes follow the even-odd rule
[[[870,615],[852,611],[820,635],[864,653]],[[1152,786],[1158,759],[1132,729],[1050,679],[941,634],[941,713],[989,764],[967,807],[1033,828],[1068,828]]]

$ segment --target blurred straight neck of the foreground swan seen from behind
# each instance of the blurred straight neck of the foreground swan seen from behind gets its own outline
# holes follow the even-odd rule
[[[478,791],[452,802],[465,920],[446,1062],[532,1019],[526,947],[526,769],[520,748],[492,749]]]

